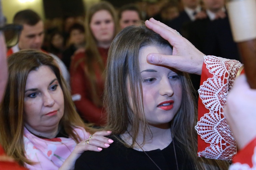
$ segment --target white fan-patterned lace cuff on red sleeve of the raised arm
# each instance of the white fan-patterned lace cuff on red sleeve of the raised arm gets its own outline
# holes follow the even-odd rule
[[[236,154],[236,142],[224,117],[223,107],[242,64],[236,60],[216,56],[204,56],[204,63],[213,77],[203,82],[198,92],[209,113],[200,118],[195,129],[206,143],[210,143],[210,147],[198,155],[231,160]]]

